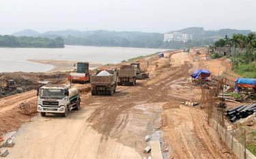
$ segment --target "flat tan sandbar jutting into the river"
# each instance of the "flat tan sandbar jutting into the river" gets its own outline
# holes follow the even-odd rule
[[[43,59],[43,60],[42,59],[28,59],[28,61],[55,66],[55,68],[53,68],[52,70],[49,70],[48,72],[72,71],[76,68],[76,66],[74,67],[74,63],[79,62],[79,61],[46,60],[46,59]],[[89,68],[98,68],[99,66],[102,66],[102,64],[89,63]]]

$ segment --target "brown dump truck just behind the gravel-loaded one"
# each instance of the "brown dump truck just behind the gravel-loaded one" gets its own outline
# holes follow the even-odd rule
[[[117,74],[117,85],[135,85],[136,69],[131,65],[122,65]]]

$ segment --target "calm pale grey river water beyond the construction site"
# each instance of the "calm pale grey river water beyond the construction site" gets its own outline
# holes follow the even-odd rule
[[[66,46],[65,48],[0,48],[0,72],[46,72],[51,65],[27,59],[78,60],[93,63],[119,63],[124,59],[164,51],[155,48],[121,48],[96,46]]]

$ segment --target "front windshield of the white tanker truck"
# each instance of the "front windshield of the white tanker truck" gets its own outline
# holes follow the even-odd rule
[[[62,99],[64,97],[64,89],[41,89],[40,98]]]

